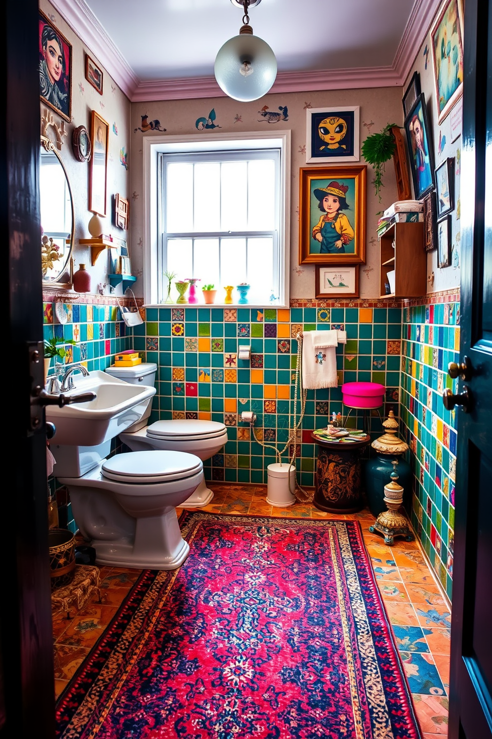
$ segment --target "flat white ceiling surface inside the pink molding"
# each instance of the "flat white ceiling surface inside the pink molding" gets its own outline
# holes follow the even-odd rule
[[[239,33],[231,0],[86,0],[140,81],[213,74],[215,55]],[[262,0],[254,34],[279,72],[392,64],[414,0]]]

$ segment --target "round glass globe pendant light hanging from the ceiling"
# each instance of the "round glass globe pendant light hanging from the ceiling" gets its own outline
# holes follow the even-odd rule
[[[266,41],[253,35],[248,8],[261,0],[232,0],[244,8],[239,35],[229,38],[215,57],[215,79],[229,98],[249,102],[266,95],[277,77],[277,59]]]

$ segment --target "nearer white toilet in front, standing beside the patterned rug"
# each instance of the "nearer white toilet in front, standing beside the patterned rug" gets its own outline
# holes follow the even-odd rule
[[[58,479],[69,488],[75,522],[97,564],[173,570],[190,551],[176,506],[203,477],[195,454],[147,451],[116,454],[82,477]]]

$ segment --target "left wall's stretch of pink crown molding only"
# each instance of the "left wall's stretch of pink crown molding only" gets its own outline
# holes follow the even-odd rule
[[[84,0],[51,0],[98,63],[131,101],[139,78]]]

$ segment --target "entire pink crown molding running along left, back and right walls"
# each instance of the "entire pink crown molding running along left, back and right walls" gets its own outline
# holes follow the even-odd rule
[[[86,44],[132,103],[225,97],[212,76],[139,81],[85,0],[51,1],[60,16],[75,30],[83,44]],[[415,0],[390,67],[279,72],[270,92],[403,86],[440,2],[441,0]]]

